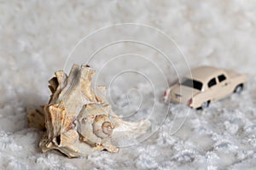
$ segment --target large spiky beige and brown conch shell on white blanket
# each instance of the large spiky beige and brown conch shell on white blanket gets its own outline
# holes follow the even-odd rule
[[[32,127],[45,126],[40,141],[43,152],[60,150],[68,157],[88,156],[97,150],[117,152],[111,142],[115,131],[133,133],[134,138],[145,133],[150,122],[125,122],[116,116],[106,99],[106,88],[91,88],[93,71],[89,65],[73,65],[67,76],[56,71],[49,80],[51,96],[42,112],[28,114]],[[44,122],[42,122],[44,121]]]

